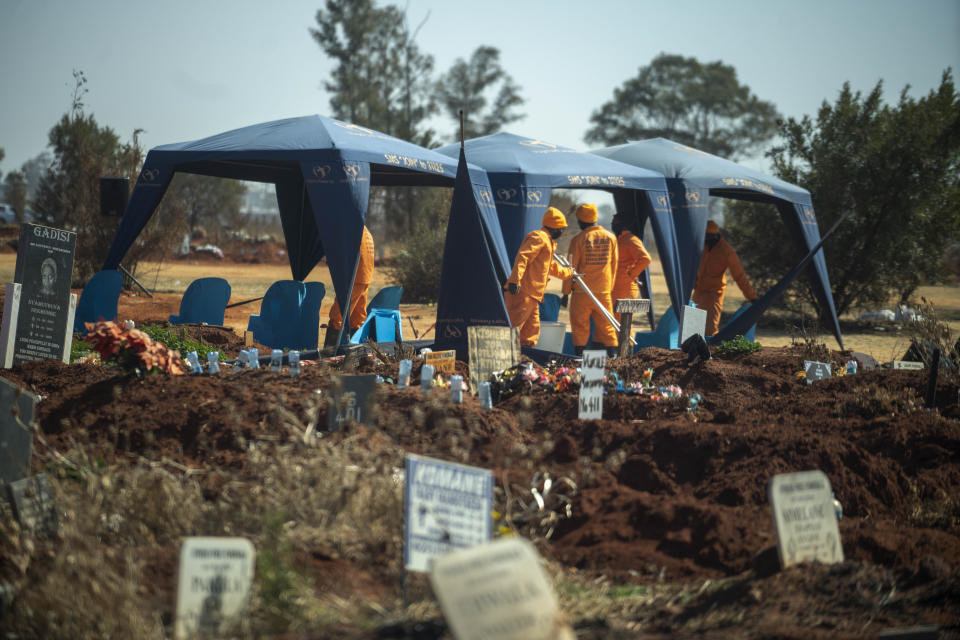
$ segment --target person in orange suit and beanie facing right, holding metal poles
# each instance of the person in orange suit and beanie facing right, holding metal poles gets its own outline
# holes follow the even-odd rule
[[[561,267],[553,259],[557,239],[567,226],[567,219],[559,210],[550,207],[543,214],[543,228],[531,231],[523,239],[513,271],[507,278],[504,302],[510,315],[510,325],[520,332],[520,344],[532,347],[540,337],[540,302],[550,276],[568,280],[573,271]]]

